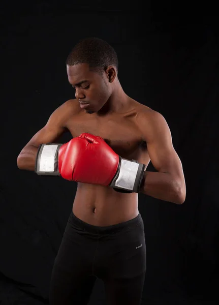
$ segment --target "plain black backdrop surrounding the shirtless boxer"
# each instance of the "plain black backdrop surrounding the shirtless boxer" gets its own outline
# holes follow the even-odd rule
[[[0,303],[48,304],[77,185],[21,171],[16,160],[51,112],[74,98],[65,60],[79,39],[93,36],[115,48],[124,91],[166,118],[186,180],[182,205],[139,194],[147,247],[142,304],[217,304],[216,5],[32,1],[2,3],[0,14]],[[99,280],[91,304],[104,304]]]

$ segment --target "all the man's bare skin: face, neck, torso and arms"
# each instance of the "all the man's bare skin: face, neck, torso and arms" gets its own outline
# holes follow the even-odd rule
[[[141,193],[182,204],[186,193],[183,169],[165,118],[127,96],[113,66],[98,74],[88,64],[78,64],[67,66],[67,74],[76,99],[51,114],[47,124],[21,150],[18,167],[34,170],[41,143],[57,142],[66,131],[73,137],[87,132],[101,136],[122,158],[146,166],[151,161],[157,172],[145,171]],[[88,107],[81,109],[79,101],[89,103]],[[139,213],[138,194],[78,182],[73,212],[96,226],[128,221]]]

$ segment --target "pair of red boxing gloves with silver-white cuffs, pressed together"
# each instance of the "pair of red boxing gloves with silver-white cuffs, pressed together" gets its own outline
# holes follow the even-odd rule
[[[83,133],[66,144],[41,144],[35,171],[39,175],[110,186],[119,192],[139,192],[145,165],[119,157],[98,136]]]

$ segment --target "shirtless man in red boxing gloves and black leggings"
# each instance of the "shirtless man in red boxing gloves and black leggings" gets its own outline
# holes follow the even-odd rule
[[[124,93],[107,42],[79,41],[66,66],[75,99],[51,114],[17,158],[20,169],[78,183],[52,270],[50,304],[87,304],[100,278],[109,305],[139,305],[146,248],[138,193],[182,204],[181,161],[165,118]],[[58,144],[66,131],[73,139]],[[150,161],[156,172],[146,170]]]

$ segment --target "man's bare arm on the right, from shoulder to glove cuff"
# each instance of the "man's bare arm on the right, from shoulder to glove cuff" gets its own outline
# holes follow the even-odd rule
[[[151,163],[158,171],[145,171],[141,192],[176,204],[183,203],[186,190],[182,164],[165,118],[151,110],[139,117],[139,124]]]

